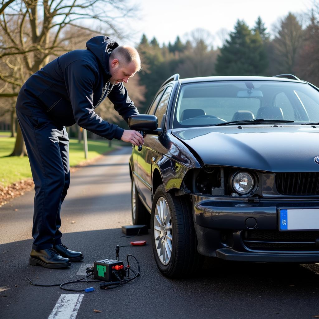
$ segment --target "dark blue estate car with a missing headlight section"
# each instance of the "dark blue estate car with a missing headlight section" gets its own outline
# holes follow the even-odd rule
[[[150,226],[164,275],[186,276],[201,255],[319,262],[317,87],[175,74],[147,114],[130,119],[147,133],[130,157],[132,217]]]

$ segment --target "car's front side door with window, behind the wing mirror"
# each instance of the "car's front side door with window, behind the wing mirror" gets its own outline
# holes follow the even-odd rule
[[[169,96],[172,92],[172,85],[167,86],[162,90],[155,99],[148,114],[154,114],[158,118],[158,127],[162,127],[163,115],[166,112]],[[158,97],[157,96],[157,97]],[[153,113],[155,110],[155,113]],[[144,145],[142,151],[138,154],[137,159],[137,174],[138,186],[140,189],[140,196],[149,208],[152,207],[152,152],[156,140],[157,134],[148,134],[144,139]]]

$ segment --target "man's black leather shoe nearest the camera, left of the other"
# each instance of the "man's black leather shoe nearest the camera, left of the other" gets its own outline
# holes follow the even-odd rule
[[[45,268],[64,268],[71,266],[70,259],[60,256],[54,248],[31,250],[30,265],[43,266]]]

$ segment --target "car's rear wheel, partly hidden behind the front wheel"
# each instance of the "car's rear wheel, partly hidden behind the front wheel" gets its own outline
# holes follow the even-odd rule
[[[133,225],[146,225],[150,228],[151,214],[147,211],[139,198],[134,179],[132,179],[131,185],[131,206]]]

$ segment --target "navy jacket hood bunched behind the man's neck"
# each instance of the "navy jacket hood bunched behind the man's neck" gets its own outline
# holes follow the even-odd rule
[[[116,41],[104,35],[96,36],[86,42],[86,48],[98,58],[106,73],[109,73],[108,65],[106,65],[106,55],[118,46]]]

